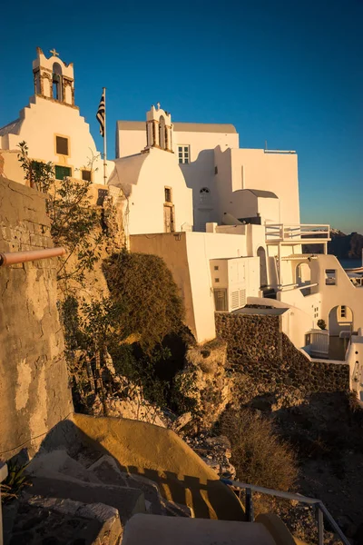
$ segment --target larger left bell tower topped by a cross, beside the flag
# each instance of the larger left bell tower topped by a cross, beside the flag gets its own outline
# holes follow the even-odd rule
[[[60,104],[74,106],[74,64],[65,64],[52,49],[46,58],[40,47],[33,61],[34,93]]]

